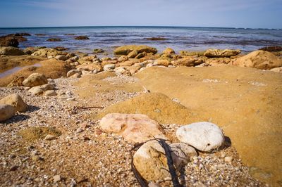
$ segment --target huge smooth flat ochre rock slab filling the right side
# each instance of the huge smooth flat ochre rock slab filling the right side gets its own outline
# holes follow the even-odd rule
[[[149,67],[135,77],[149,91],[189,108],[184,124],[209,121],[222,127],[257,179],[275,185],[282,180],[280,73],[231,65]]]

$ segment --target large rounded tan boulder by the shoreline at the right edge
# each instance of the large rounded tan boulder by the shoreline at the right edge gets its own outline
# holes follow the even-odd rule
[[[255,67],[259,70],[269,70],[282,66],[282,59],[267,51],[253,51],[252,53],[236,58],[233,65],[240,67]]]

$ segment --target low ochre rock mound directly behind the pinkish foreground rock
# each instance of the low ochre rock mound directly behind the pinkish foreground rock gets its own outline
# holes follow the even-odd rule
[[[140,113],[160,124],[185,124],[192,116],[190,110],[162,93],[143,93],[128,101],[110,105],[98,113],[98,119],[109,113]]]

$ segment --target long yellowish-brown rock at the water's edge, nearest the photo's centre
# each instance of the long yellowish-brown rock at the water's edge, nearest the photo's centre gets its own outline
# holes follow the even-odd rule
[[[150,47],[150,46],[135,46],[135,45],[129,45],[129,46],[121,46],[114,50],[114,53],[116,55],[128,55],[131,51],[137,51],[137,53],[157,53],[157,49]]]

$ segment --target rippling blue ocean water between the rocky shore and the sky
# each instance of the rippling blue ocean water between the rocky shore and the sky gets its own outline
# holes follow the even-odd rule
[[[64,46],[69,51],[91,53],[93,49],[104,49],[112,53],[116,46],[145,44],[158,51],[171,47],[175,51],[199,51],[211,48],[240,49],[254,51],[264,46],[282,46],[282,30],[214,28],[214,27],[35,27],[0,28],[0,35],[27,32],[27,41],[20,42],[20,48],[27,46]],[[35,34],[46,34],[36,36]],[[75,36],[87,35],[88,40],[75,40]],[[49,38],[62,41],[47,41]],[[166,40],[150,41],[145,38],[164,37]]]

